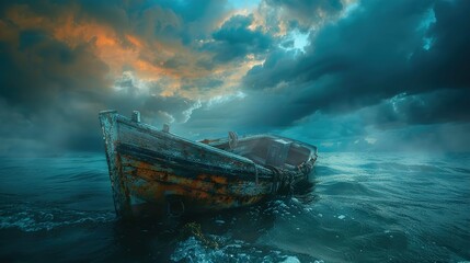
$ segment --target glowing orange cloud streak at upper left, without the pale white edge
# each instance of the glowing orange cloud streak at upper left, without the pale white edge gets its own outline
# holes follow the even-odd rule
[[[162,95],[171,95],[177,90],[181,78],[198,78],[207,75],[206,70],[194,68],[197,60],[196,54],[183,45],[163,42],[146,42],[137,35],[116,32],[110,25],[95,21],[78,21],[77,7],[72,7],[59,18],[41,16],[27,5],[15,5],[8,12],[8,19],[21,30],[41,30],[50,34],[54,38],[67,44],[71,48],[80,45],[89,45],[95,56],[104,61],[108,68],[108,78],[122,76],[125,69],[134,69],[135,75],[147,81],[156,81],[161,78],[174,79],[174,85],[162,92]],[[18,33],[9,31],[4,22],[0,21],[2,38],[18,38]],[[177,69],[164,67],[164,62],[173,56],[184,57],[186,62]]]

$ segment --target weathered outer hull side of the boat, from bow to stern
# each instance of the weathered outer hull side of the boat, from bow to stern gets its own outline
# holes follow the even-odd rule
[[[138,207],[158,214],[217,210],[255,204],[277,193],[286,180],[252,160],[131,121],[115,111],[100,113],[116,214]]]

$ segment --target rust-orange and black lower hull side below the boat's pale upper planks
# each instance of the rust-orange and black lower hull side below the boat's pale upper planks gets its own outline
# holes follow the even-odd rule
[[[243,180],[200,171],[198,163],[169,163],[139,149],[123,149],[123,182],[130,204],[152,203],[164,213],[203,211],[247,206],[260,202],[272,191],[272,182]],[[183,205],[181,205],[183,204]]]

